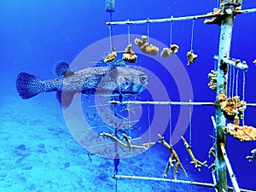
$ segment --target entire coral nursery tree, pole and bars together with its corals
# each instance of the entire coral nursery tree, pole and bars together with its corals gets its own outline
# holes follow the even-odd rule
[[[176,102],[175,104],[180,105],[214,105],[216,107],[216,122],[214,121],[215,128],[215,136],[214,136],[214,146],[211,148],[209,154],[211,154],[214,158],[214,164],[210,166],[213,170],[212,183],[195,183],[190,182],[189,184],[201,185],[206,187],[215,188],[218,192],[228,191],[229,189],[233,189],[236,192],[241,191],[236,181],[236,177],[234,172],[232,171],[232,167],[230,165],[230,160],[228,159],[227,153],[225,151],[226,147],[226,134],[231,135],[239,139],[242,142],[246,141],[255,141],[256,140],[256,131],[252,126],[243,125],[240,126],[240,119],[244,121],[244,110],[247,107],[247,103],[244,101],[244,89],[243,89],[243,98],[240,99],[237,94],[235,96],[227,96],[227,81],[229,74],[229,67],[236,67],[237,70],[241,70],[243,72],[247,71],[247,63],[245,61],[240,61],[239,59],[230,59],[230,43],[232,38],[232,27],[233,22],[236,15],[241,15],[244,13],[253,13],[256,12],[256,9],[241,9],[242,0],[222,0],[219,8],[213,9],[212,13],[206,15],[194,15],[194,16],[185,16],[185,17],[171,17],[166,19],[156,19],[156,20],[126,20],[126,21],[110,21],[107,22],[107,25],[137,25],[137,24],[148,24],[148,23],[161,23],[161,22],[171,22],[179,21],[179,20],[193,20],[192,26],[192,40],[191,40],[191,49],[187,53],[187,61],[188,65],[195,62],[197,59],[197,55],[193,53],[192,43],[193,43],[193,29],[194,29],[194,21],[197,19],[206,19],[205,24],[217,24],[221,27],[220,38],[219,38],[219,46],[218,46],[218,56],[215,56],[214,59],[218,61],[217,70],[212,70],[211,73],[208,74],[208,79],[210,79],[210,83],[208,86],[212,90],[216,90],[216,102],[212,103],[204,103],[204,102]],[[159,48],[154,46],[153,44],[148,44],[148,36],[142,36],[142,39],[136,38],[135,44],[141,49],[144,54],[148,55],[157,55],[159,52]],[[133,52],[131,52],[131,47],[125,49],[125,58],[130,58],[133,56]],[[162,57],[167,57],[172,54],[177,53],[177,49],[179,47],[177,44],[170,44],[170,49],[164,48],[160,55]],[[129,55],[131,54],[132,55]],[[134,53],[135,55],[135,53]],[[164,59],[164,58],[163,58]],[[129,61],[128,59],[125,59]],[[255,61],[253,61],[255,63]],[[233,79],[235,81],[235,79]],[[236,79],[238,81],[238,79]],[[243,82],[245,84],[245,82]],[[237,86],[236,86],[237,89]],[[233,92],[234,93],[234,92]],[[237,93],[237,91],[236,91]],[[112,104],[129,104],[130,102],[112,102]],[[168,104],[172,105],[174,102],[134,102],[137,104]],[[252,106],[255,106],[254,104]],[[226,120],[234,121],[234,124],[227,124]],[[170,131],[171,132],[171,131]],[[126,143],[120,143],[117,138],[111,137],[117,143],[125,146],[126,148],[132,148],[129,137],[124,136]],[[168,181],[173,183],[187,183],[186,181],[178,180],[177,181],[177,168],[180,167],[183,173],[187,176],[187,172],[185,171],[181,160],[179,159],[177,152],[174,150],[172,143],[166,143],[164,137],[158,134],[160,138],[160,143],[162,143],[168,150],[171,152],[171,156],[167,161],[166,169],[163,175],[163,178],[150,178],[150,177],[129,177],[129,178],[137,178],[137,179],[145,179],[145,180],[157,180],[157,181]],[[171,136],[170,136],[171,137]],[[171,140],[171,139],[170,139]],[[192,163],[195,164],[195,167],[200,171],[201,166],[207,166],[207,161],[201,162],[195,159],[194,154],[192,153],[191,146],[187,141],[182,137],[185,148],[187,149],[189,156],[192,160]],[[130,147],[129,147],[130,146]],[[247,159],[252,161],[255,158],[255,149],[252,150],[252,156],[247,156]],[[173,176],[174,180],[165,180],[167,177],[167,172],[170,168],[174,166]],[[230,173],[230,181],[232,183],[232,188],[228,186],[227,183],[227,171]],[[128,176],[118,176],[115,178],[127,178]],[[246,189],[242,189],[243,191],[249,191]]]

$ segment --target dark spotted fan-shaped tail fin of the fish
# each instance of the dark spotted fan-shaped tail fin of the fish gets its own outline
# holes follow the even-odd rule
[[[16,89],[22,99],[28,99],[45,91],[44,82],[28,73],[19,73]]]

